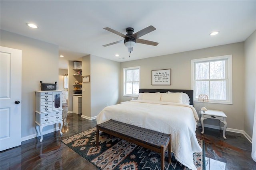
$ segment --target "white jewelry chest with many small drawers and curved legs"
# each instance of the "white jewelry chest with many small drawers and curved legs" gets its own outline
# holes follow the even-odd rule
[[[36,91],[36,137],[41,136],[42,129],[47,125],[56,124],[56,131],[60,123],[60,135],[62,135],[62,91]]]

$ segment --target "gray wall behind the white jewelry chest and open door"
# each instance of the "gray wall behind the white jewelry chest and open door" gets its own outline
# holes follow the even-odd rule
[[[22,141],[35,137],[35,90],[58,81],[58,46],[0,30],[1,46],[22,50]],[[57,84],[58,85],[58,84]],[[54,125],[44,127],[52,131]]]

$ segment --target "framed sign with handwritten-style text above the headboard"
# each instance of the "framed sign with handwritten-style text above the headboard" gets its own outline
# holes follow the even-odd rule
[[[171,85],[171,69],[152,70],[152,85]]]

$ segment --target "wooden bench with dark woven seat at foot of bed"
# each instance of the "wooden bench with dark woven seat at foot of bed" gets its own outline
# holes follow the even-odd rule
[[[110,119],[96,126],[96,146],[99,143],[99,131],[120,139],[135,143],[161,154],[161,170],[164,170],[164,152],[168,147],[168,162],[171,162],[171,135],[137,127]]]

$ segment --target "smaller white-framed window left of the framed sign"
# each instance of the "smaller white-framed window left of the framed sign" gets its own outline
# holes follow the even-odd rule
[[[124,68],[124,96],[138,97],[140,66]]]

